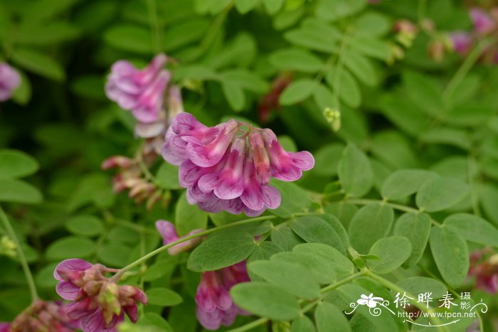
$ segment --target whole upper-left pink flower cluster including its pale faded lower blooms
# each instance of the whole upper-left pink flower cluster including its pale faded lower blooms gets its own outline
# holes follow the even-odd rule
[[[166,62],[166,55],[161,53],[147,68],[139,70],[128,61],[119,60],[112,65],[105,85],[107,97],[122,109],[132,111],[137,119],[135,134],[149,139],[158,150],[171,119],[183,112],[179,87],[169,85],[171,73],[164,69]],[[166,91],[167,110],[164,102]]]

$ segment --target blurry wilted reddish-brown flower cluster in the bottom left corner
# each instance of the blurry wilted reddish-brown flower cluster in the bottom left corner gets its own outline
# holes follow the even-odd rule
[[[64,307],[62,301],[36,300],[12,323],[0,323],[0,332],[75,331],[80,324],[65,314]]]

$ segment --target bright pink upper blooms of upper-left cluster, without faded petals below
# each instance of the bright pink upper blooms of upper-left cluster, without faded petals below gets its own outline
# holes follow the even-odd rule
[[[105,85],[107,97],[123,109],[132,111],[139,122],[157,122],[163,108],[164,90],[171,76],[164,70],[164,65],[164,54],[156,55],[144,70],[138,70],[128,61],[117,61],[112,65]]]

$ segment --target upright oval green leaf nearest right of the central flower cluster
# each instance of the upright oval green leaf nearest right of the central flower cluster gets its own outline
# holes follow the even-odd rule
[[[337,173],[341,187],[348,196],[364,196],[373,184],[373,172],[368,157],[351,143],[342,152]]]

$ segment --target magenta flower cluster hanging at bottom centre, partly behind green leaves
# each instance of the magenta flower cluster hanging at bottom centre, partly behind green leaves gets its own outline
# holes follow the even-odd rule
[[[196,314],[201,325],[217,330],[221,325],[231,326],[238,314],[249,315],[233,303],[229,293],[235,284],[249,281],[245,262],[203,272],[196,293]]]

